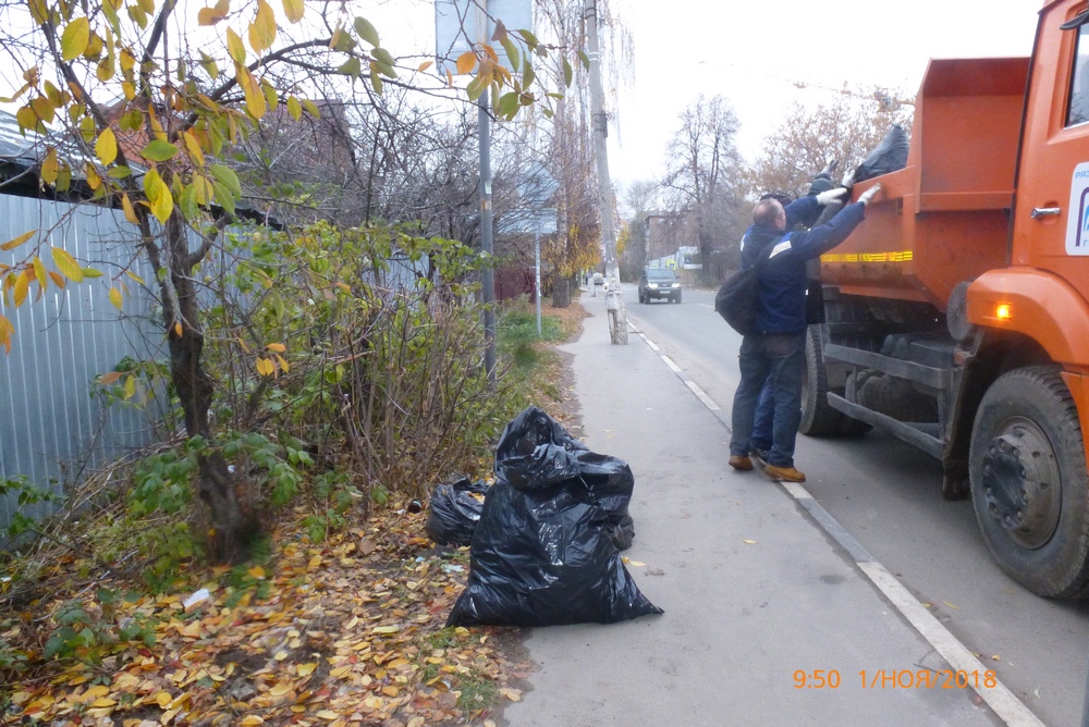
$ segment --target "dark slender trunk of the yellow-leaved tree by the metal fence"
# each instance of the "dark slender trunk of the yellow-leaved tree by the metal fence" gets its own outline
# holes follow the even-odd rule
[[[170,257],[169,283],[163,281],[163,323],[170,350],[170,375],[185,417],[185,433],[200,436],[207,448],[197,455],[196,494],[208,509],[211,523],[210,556],[217,563],[238,563],[249,555],[249,544],[258,531],[256,517],[244,506],[240,485],[242,473],[232,473],[215,448],[208,414],[215,384],[204,368],[204,333],[193,268],[199,260],[189,254],[185,223],[175,213],[166,224]],[[154,262],[154,261],[152,261]],[[170,291],[167,291],[167,287]]]

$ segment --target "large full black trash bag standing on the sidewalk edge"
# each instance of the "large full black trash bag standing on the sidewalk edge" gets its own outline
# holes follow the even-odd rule
[[[537,407],[506,426],[495,484],[469,549],[469,577],[446,626],[553,626],[661,614],[613,542],[635,478]]]

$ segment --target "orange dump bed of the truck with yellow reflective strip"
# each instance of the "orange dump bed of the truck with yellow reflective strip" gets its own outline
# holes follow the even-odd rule
[[[841,293],[920,300],[1008,263],[1010,215],[1029,59],[933,60],[916,98],[907,167],[847,241],[821,258]]]

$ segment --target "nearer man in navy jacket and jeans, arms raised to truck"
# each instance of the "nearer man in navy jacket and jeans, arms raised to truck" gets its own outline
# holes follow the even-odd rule
[[[742,250],[742,268],[750,268],[767,256],[760,271],[760,305],[757,333],[742,340],[738,355],[742,380],[734,394],[730,466],[752,469],[749,447],[757,399],[764,382],[771,386],[775,407],[772,446],[766,471],[790,482],[805,482],[794,467],[794,441],[802,419],[802,381],[806,361],[806,261],[819,258],[844,239],[862,221],[866,205],[881,189],[874,185],[858,201],[847,205],[827,224],[804,232],[787,232],[786,210],[774,199],[764,199],[752,210],[752,227]],[[822,193],[828,199],[803,197],[790,205],[792,218],[805,218],[796,205],[832,201],[846,189]],[[770,249],[769,249],[770,246]]]

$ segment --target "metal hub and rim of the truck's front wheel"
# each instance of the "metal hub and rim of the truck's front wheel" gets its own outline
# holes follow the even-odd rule
[[[1047,435],[1017,418],[995,432],[983,455],[987,509],[1023,547],[1036,550],[1059,526],[1059,464]]]

